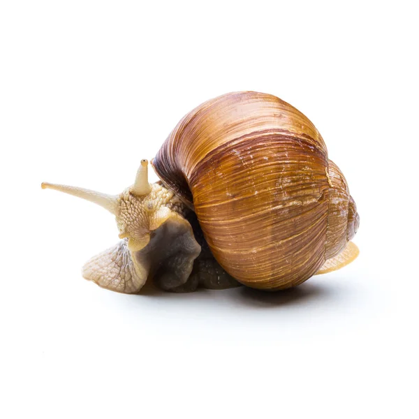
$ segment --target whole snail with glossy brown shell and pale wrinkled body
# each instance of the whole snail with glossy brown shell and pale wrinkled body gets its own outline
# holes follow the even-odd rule
[[[255,91],[189,112],[120,195],[43,183],[115,215],[121,241],[83,277],[138,293],[249,286],[277,291],[358,256],[359,215],[325,142],[300,111]]]

